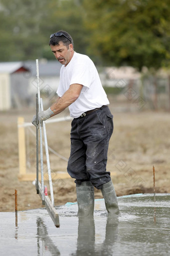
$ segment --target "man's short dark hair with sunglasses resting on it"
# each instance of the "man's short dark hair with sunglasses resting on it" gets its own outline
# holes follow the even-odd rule
[[[63,35],[65,35],[66,37],[64,37],[63,35],[61,36],[55,36],[54,34],[56,33],[62,33]],[[66,31],[62,31],[59,30],[56,33],[53,34],[53,37],[50,38],[49,40],[49,45],[59,45],[59,42],[62,42],[63,45],[65,45],[68,48],[68,45],[71,43],[73,46],[73,40],[72,37],[66,32]],[[69,40],[68,40],[69,39]]]

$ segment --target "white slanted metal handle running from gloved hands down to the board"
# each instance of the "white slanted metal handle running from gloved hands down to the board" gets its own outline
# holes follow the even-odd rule
[[[41,108],[41,111],[43,111],[42,99],[40,99],[40,108]],[[48,169],[48,179],[49,179],[49,187],[50,187],[50,196],[51,196],[52,205],[54,205],[53,188],[52,188],[52,179],[51,179],[51,170],[50,170],[50,164],[49,164],[49,153],[48,153],[48,145],[47,145],[47,137],[46,137],[46,128],[45,128],[45,122],[44,122],[44,121],[42,121],[42,125],[43,125],[43,138],[44,138],[44,144],[45,144],[46,164],[47,164],[47,169]]]

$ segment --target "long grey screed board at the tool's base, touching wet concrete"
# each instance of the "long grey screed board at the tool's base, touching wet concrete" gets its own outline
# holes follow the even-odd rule
[[[35,188],[36,188],[36,180],[35,180]],[[39,196],[42,199],[42,191],[41,191],[40,182],[38,182],[38,190],[39,190]],[[58,216],[57,211],[54,208],[54,206],[52,205],[51,200],[49,199],[48,196],[44,196],[44,203],[45,203],[45,208],[46,208],[49,216],[51,217],[54,225],[56,227],[59,227],[59,216]]]

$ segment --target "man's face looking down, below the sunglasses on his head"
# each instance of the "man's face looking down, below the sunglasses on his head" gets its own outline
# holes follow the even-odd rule
[[[64,66],[70,62],[74,53],[72,44],[69,44],[69,48],[67,49],[62,42],[59,42],[59,45],[50,45],[50,48],[55,58]]]

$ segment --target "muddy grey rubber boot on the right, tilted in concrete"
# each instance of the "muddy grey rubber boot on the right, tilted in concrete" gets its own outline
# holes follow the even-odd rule
[[[117,197],[111,180],[102,185],[101,193],[105,201],[105,208],[108,212],[108,217],[117,216],[119,214],[119,209]]]

